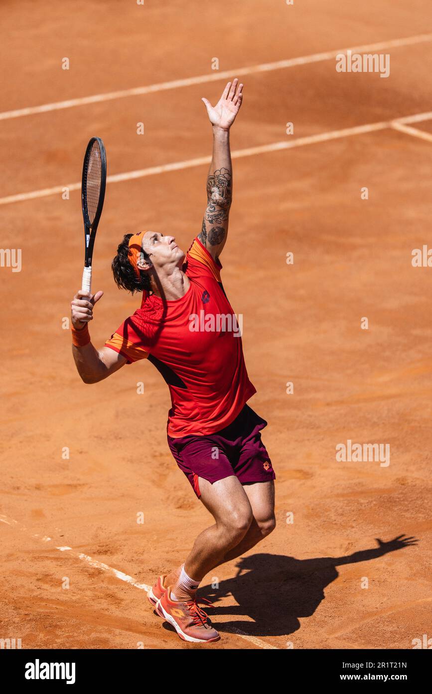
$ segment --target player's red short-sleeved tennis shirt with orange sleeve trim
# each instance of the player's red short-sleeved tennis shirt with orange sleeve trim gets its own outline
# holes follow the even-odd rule
[[[172,403],[168,434],[174,438],[223,429],[256,392],[221,268],[195,239],[183,264],[190,280],[186,294],[174,301],[145,294],[141,308],[105,343],[128,364],[148,359],[163,375]]]

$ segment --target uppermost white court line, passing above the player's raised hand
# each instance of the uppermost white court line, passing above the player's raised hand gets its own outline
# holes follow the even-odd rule
[[[288,58],[287,60],[277,60],[276,62],[263,62],[260,65],[251,65],[250,67],[235,67],[231,70],[225,70],[222,72],[217,71],[212,74],[187,77],[179,80],[172,80],[170,82],[160,82],[154,85],[147,85],[145,87],[133,87],[132,89],[117,90],[116,92],[107,92],[106,94],[93,94],[92,96],[82,96],[78,99],[67,99],[66,101],[44,103],[40,106],[29,106],[28,108],[18,108],[12,111],[4,111],[3,113],[0,113],[0,120],[5,121],[11,118],[30,116],[36,113],[46,113],[63,108],[73,108],[73,106],[82,106],[88,103],[100,103],[102,101],[112,101],[113,99],[124,99],[126,96],[141,96],[142,94],[164,92],[170,89],[178,89],[179,87],[190,87],[190,85],[231,79],[233,76],[242,77],[243,75],[251,75],[258,72],[269,72],[271,70],[279,70],[286,67],[295,67],[296,65],[308,65],[312,62],[330,60],[331,58],[335,58],[338,53],[346,53],[347,51],[352,51],[353,53],[384,51],[390,48],[399,48],[399,46],[413,46],[414,44],[428,41],[432,41],[432,33],[418,34],[416,36],[408,36],[403,39],[394,39],[375,44],[365,44],[363,46],[352,46],[351,48],[335,49],[334,51],[326,51],[325,53],[312,53],[310,56]]]

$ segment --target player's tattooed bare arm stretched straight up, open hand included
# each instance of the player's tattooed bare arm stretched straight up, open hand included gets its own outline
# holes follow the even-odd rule
[[[226,242],[228,217],[233,196],[233,167],[229,144],[229,130],[242,105],[243,85],[237,78],[228,82],[215,106],[202,99],[213,126],[213,158],[208,169],[207,207],[199,241],[215,259]]]

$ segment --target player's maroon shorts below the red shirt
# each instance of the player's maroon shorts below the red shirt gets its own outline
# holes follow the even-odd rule
[[[168,446],[179,468],[199,498],[198,477],[211,484],[235,475],[242,484],[276,479],[260,430],[267,426],[249,405],[224,429],[208,436],[168,436]]]

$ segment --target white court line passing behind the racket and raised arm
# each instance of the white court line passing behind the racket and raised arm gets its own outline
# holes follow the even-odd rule
[[[386,128],[396,128],[397,124],[418,123],[432,119],[432,111],[417,113],[412,116],[404,116],[402,118],[392,119],[389,121],[379,121],[377,123],[369,123],[363,126],[354,126],[352,128],[344,128],[343,130],[330,130],[327,133],[319,133],[318,135],[309,135],[307,137],[298,137],[297,139],[286,139],[282,142],[271,142],[258,147],[247,147],[246,149],[237,149],[231,153],[231,158],[240,159],[242,157],[251,157],[256,154],[264,154],[267,152],[276,152],[282,149],[294,149],[305,144],[317,144],[318,142],[327,142],[340,137],[349,137],[350,135],[361,135],[362,133],[372,133],[375,130],[385,130]],[[420,132],[420,131],[419,131]],[[136,171],[127,171],[124,174],[113,174],[107,176],[107,183],[120,183],[124,180],[132,180],[134,178],[144,178],[145,176],[155,176],[156,174],[164,174],[167,171],[179,171],[180,169],[190,169],[199,167],[203,164],[210,164],[211,156],[198,157],[196,159],[187,159],[182,162],[172,162],[170,164],[162,164],[159,167],[148,167],[147,169],[136,169]],[[81,183],[68,183],[66,185],[57,185],[53,188],[43,188],[42,190],[33,190],[28,193],[19,193],[16,195],[8,195],[5,198],[0,198],[0,205],[9,205],[10,203],[20,203],[26,200],[34,200],[35,198],[46,198],[50,195],[61,194],[64,188],[69,191],[80,190]]]

